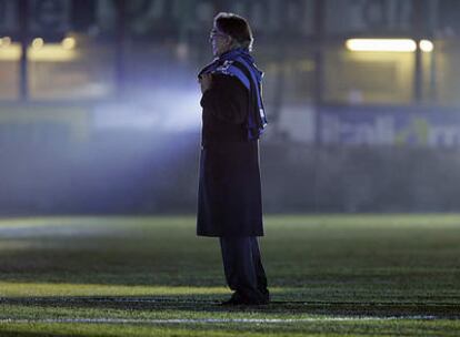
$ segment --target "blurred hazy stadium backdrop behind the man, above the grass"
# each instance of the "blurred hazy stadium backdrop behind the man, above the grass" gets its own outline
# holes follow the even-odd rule
[[[267,212],[460,211],[458,0],[0,0],[0,215],[193,213],[219,11],[266,72]]]

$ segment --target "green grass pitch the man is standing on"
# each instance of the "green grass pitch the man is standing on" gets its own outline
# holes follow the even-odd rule
[[[0,221],[0,336],[459,336],[460,215],[267,216],[272,303],[218,305],[193,216]]]

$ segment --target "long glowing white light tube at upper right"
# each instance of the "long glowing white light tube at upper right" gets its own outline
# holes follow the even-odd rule
[[[417,49],[411,39],[349,39],[346,45],[351,51],[412,52]]]

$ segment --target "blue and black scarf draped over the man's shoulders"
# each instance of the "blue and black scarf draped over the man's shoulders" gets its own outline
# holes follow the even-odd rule
[[[262,75],[247,49],[238,48],[216,58],[198,74],[223,74],[236,76],[249,91],[248,139],[257,140],[267,125],[262,101]]]

